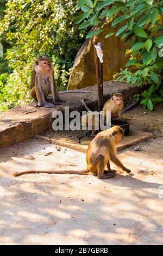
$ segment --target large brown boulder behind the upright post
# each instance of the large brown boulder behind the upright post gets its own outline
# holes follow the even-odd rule
[[[73,64],[73,71],[68,82],[68,90],[94,86],[96,82],[96,69],[93,42],[103,45],[103,81],[112,79],[112,75],[124,68],[129,56],[124,57],[128,45],[124,45],[120,37],[110,36],[105,39],[106,32],[87,39],[80,48]]]

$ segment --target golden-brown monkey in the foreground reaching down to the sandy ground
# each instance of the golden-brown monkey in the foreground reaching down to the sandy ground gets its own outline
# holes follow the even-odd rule
[[[123,138],[123,130],[120,126],[114,126],[99,132],[91,141],[86,151],[86,170],[26,170],[14,173],[14,176],[30,173],[49,173],[49,174],[80,174],[97,175],[98,179],[108,179],[115,176],[115,171],[110,169],[110,161],[122,168],[124,172],[130,173],[130,169],[123,166],[116,156],[116,144]],[[108,172],[105,171],[105,166]],[[105,174],[106,173],[106,174]]]

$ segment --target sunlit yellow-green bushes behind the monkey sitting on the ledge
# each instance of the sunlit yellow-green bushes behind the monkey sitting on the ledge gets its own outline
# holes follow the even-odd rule
[[[48,54],[54,64],[59,89],[66,88],[74,57],[84,42],[86,30],[75,25],[79,9],[76,0],[7,0],[0,3],[0,42],[9,69],[0,59],[0,111],[30,102],[29,83],[34,59]],[[2,11],[1,11],[2,10]],[[3,13],[4,11],[4,13]],[[5,61],[6,61],[5,60]],[[10,73],[10,74],[9,74]]]

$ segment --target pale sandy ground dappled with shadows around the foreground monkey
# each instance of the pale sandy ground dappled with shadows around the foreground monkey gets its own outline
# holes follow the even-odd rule
[[[125,114],[133,129],[154,137],[120,151],[131,169],[115,178],[29,174],[18,170],[86,167],[85,154],[30,139],[0,149],[1,245],[162,245],[163,109]]]

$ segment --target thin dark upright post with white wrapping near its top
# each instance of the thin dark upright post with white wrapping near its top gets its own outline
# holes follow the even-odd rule
[[[95,53],[95,65],[96,65],[96,81],[97,81],[97,88],[98,88],[98,112],[102,111],[103,109],[103,63],[99,61],[97,56],[95,43],[94,46],[94,53]]]

